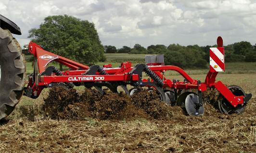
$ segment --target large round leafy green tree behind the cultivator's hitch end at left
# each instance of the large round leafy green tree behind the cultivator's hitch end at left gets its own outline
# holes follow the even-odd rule
[[[84,64],[104,61],[104,48],[93,23],[69,15],[48,16],[29,38],[52,53]],[[61,67],[62,68],[62,67]]]

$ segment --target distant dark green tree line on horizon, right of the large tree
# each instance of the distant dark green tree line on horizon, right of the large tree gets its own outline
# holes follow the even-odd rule
[[[150,45],[147,48],[140,44],[135,44],[133,48],[124,46],[116,48],[115,46],[104,46],[105,53],[128,53],[128,54],[164,54],[165,63],[176,65],[182,68],[205,68],[209,62],[209,48],[214,46],[189,45],[181,46],[179,44]],[[226,62],[256,62],[256,44],[241,41],[230,44],[225,47]]]

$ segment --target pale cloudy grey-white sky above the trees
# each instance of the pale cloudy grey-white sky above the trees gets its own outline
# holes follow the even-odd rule
[[[256,0],[0,0],[0,14],[22,31],[38,28],[49,15],[68,14],[89,20],[102,45],[135,44],[224,45],[240,41],[256,44]]]

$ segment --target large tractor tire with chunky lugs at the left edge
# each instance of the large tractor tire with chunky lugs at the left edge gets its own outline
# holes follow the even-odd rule
[[[0,119],[12,113],[23,95],[26,64],[11,32],[0,28]]]

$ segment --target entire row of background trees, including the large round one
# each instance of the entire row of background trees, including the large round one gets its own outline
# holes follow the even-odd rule
[[[95,25],[87,20],[70,15],[53,15],[44,19],[38,28],[29,30],[29,38],[57,55],[77,62],[92,65],[106,61],[104,53],[164,54],[166,65],[181,68],[204,68],[209,61],[209,47],[179,44],[151,45],[147,48],[135,44],[133,48],[124,46],[102,46]],[[256,46],[242,41],[225,46],[227,62],[256,62]]]

